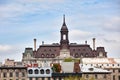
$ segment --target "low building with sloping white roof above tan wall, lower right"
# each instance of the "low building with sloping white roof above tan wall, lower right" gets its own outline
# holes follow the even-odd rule
[[[81,66],[81,72],[82,72],[82,77],[85,79],[89,80],[91,78],[95,80],[112,80],[111,79],[111,71],[104,70],[102,68],[96,68],[93,66],[88,66],[88,65],[82,65]]]

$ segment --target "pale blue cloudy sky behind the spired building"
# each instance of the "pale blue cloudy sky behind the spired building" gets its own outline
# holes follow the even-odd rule
[[[120,0],[0,0],[0,62],[20,61],[26,47],[59,43],[63,14],[71,43],[105,47],[120,58]]]

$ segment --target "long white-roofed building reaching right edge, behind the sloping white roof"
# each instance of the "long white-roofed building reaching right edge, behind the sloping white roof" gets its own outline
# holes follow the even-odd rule
[[[111,71],[111,80],[120,80],[120,58],[82,58],[82,66],[94,66]]]

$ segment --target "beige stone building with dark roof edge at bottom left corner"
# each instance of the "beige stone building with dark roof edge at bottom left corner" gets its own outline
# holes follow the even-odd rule
[[[0,80],[28,80],[27,67],[0,67]]]

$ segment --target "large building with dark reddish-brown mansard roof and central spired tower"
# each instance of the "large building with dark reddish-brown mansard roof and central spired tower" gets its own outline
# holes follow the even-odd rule
[[[60,29],[60,42],[53,44],[44,44],[36,49],[36,39],[34,39],[33,48],[26,48],[23,53],[22,61],[26,64],[41,63],[41,62],[55,62],[62,61],[66,57],[71,58],[94,58],[94,57],[107,57],[107,52],[104,47],[95,48],[95,38],[93,38],[93,48],[87,44],[77,44],[69,42],[69,29],[63,17],[63,24]],[[43,64],[39,64],[41,66]]]

